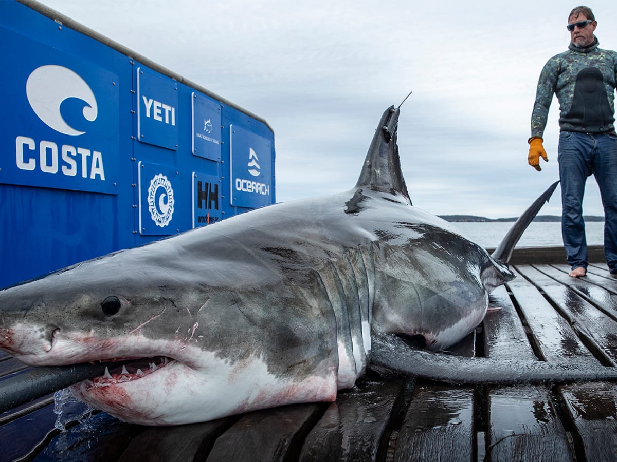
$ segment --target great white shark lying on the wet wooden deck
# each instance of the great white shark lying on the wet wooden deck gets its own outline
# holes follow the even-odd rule
[[[149,425],[331,402],[371,364],[453,382],[615,377],[611,368],[460,367],[400,340],[439,351],[473,331],[491,290],[514,277],[513,246],[557,184],[491,256],[412,206],[398,118],[398,108],[384,112],[351,190],[267,206],[0,291],[0,347],[36,367],[122,361],[73,392]]]

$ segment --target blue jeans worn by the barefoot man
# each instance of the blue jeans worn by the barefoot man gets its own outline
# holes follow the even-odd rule
[[[561,132],[558,147],[561,180],[561,233],[572,269],[587,268],[587,240],[582,197],[594,174],[604,206],[604,254],[617,272],[617,136]]]

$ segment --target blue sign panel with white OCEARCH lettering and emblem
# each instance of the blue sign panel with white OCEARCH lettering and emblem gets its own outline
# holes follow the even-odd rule
[[[272,146],[270,140],[231,126],[231,205],[258,208],[271,204]]]

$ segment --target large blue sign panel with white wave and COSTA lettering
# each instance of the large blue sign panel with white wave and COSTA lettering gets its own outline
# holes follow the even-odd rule
[[[118,76],[6,28],[0,54],[0,183],[115,194]]]

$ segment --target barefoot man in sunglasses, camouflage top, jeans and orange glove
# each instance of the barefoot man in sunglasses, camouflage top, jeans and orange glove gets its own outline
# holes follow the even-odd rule
[[[540,171],[540,156],[553,93],[560,105],[557,149],[561,180],[561,233],[571,277],[587,272],[587,241],[582,197],[587,176],[594,174],[604,206],[604,253],[611,274],[617,275],[617,136],[615,85],[617,53],[598,48],[594,14],[586,6],[568,16],[570,45],[553,56],[540,73],[531,115],[529,165]]]

